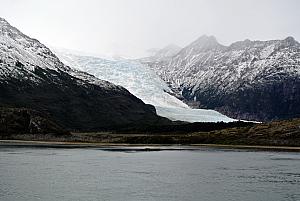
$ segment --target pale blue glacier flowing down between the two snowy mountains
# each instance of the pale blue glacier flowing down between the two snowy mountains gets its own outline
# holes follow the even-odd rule
[[[234,121],[214,110],[191,109],[170,95],[171,89],[147,66],[130,60],[107,60],[80,55],[66,49],[52,48],[59,59],[70,67],[86,71],[99,79],[125,87],[147,104],[154,105],[157,114],[171,120],[187,122]]]

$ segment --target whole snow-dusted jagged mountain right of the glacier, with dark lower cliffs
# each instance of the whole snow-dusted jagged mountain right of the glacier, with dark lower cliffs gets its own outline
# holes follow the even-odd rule
[[[300,117],[300,44],[292,37],[223,46],[202,36],[169,59],[142,61],[196,107],[236,119]]]

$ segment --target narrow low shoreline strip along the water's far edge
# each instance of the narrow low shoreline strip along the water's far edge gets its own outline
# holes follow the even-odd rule
[[[126,143],[93,143],[93,142],[58,142],[58,141],[26,141],[0,140],[1,146],[12,147],[45,147],[45,148],[129,148],[138,150],[197,150],[200,148],[220,149],[251,149],[265,151],[293,151],[300,152],[300,147],[264,146],[264,145],[225,145],[225,144],[126,144]],[[125,148],[124,148],[125,149]]]

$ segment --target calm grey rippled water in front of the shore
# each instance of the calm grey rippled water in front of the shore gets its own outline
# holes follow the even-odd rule
[[[300,153],[0,147],[2,201],[300,200]]]

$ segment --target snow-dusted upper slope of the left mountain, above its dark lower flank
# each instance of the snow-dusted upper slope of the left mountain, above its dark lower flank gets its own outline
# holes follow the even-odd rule
[[[17,78],[39,83],[43,80],[34,71],[41,68],[65,72],[100,87],[118,89],[118,86],[64,65],[45,45],[24,35],[3,18],[0,18],[0,64],[2,79]]]

